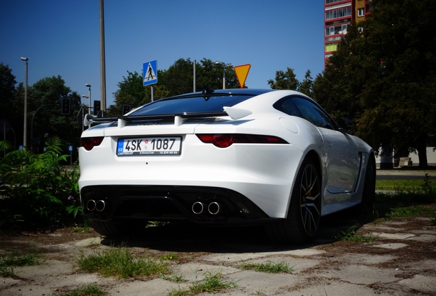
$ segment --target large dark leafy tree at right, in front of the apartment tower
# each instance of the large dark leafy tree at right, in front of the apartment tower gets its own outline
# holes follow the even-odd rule
[[[315,98],[350,114],[356,134],[375,149],[416,149],[426,167],[428,136],[436,133],[436,2],[373,5],[370,18],[348,29],[323,77],[315,79]]]

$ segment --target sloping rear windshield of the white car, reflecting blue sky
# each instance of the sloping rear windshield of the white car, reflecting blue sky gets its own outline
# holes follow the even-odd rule
[[[250,99],[255,95],[212,95],[210,97],[189,96],[160,99],[141,107],[132,112],[130,116],[136,115],[162,115],[162,114],[183,114],[202,112],[223,112],[223,107],[232,107],[241,101]]]

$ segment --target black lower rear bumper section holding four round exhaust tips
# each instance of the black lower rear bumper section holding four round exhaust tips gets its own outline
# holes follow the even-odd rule
[[[229,189],[203,186],[86,186],[84,217],[120,222],[191,221],[261,223],[269,220],[250,199]]]

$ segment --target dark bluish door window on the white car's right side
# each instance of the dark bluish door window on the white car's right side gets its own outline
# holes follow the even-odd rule
[[[313,123],[313,125],[330,130],[337,130],[335,121],[315,103],[300,97],[293,97],[293,102],[298,110],[300,110],[303,118]]]

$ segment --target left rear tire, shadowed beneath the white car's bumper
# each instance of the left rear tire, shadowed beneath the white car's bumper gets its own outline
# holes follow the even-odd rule
[[[98,221],[88,219],[90,227],[101,234],[108,237],[125,237],[141,234],[147,225],[147,221],[129,221],[122,223],[112,223],[107,221]]]

